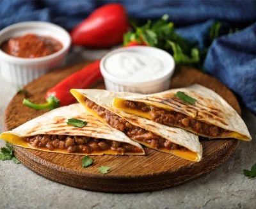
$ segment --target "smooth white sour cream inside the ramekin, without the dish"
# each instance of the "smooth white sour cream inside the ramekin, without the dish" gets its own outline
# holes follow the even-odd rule
[[[136,51],[113,54],[104,66],[109,74],[125,81],[150,81],[166,73],[163,60]]]

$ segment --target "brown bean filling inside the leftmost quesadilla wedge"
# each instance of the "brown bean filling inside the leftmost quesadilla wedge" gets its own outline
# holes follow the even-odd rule
[[[54,150],[56,148],[66,150],[68,153],[93,153],[103,150],[113,150],[118,153],[139,153],[142,150],[132,144],[120,143],[107,139],[95,139],[86,136],[72,135],[33,135],[24,137],[26,143],[35,148],[47,148]]]

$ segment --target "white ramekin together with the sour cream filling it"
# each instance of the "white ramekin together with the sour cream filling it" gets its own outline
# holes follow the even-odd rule
[[[175,62],[155,47],[124,47],[100,61],[100,72],[109,91],[157,93],[169,89]]]

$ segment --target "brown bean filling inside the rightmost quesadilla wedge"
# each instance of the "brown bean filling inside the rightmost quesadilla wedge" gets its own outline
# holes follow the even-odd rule
[[[183,128],[189,127],[196,133],[210,135],[212,137],[221,135],[223,134],[223,132],[228,132],[223,128],[197,121],[194,118],[186,116],[179,112],[166,111],[157,107],[148,106],[143,102],[131,102],[129,100],[126,100],[124,102],[124,105],[129,109],[137,109],[138,111],[148,112],[148,114],[152,117],[152,120],[156,121],[156,123],[161,123],[172,127],[177,125]]]

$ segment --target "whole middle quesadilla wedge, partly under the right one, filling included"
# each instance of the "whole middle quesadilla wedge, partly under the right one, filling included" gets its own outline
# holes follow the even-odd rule
[[[197,135],[127,114],[113,107],[113,98],[134,93],[100,89],[71,89],[71,93],[94,116],[124,132],[133,141],[194,162],[202,159],[202,146]]]

